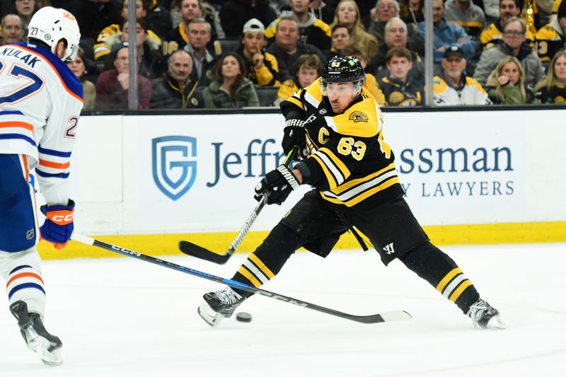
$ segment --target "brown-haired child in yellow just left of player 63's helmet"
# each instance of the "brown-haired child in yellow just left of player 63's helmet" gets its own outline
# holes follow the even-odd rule
[[[293,93],[311,85],[323,73],[323,64],[320,58],[315,54],[301,55],[295,62],[295,74],[291,79],[283,81],[277,91],[277,100],[275,105],[287,98]]]

